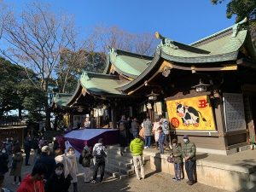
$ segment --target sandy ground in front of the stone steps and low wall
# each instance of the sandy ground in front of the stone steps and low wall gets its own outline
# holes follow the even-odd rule
[[[22,178],[28,172],[31,172],[32,166],[23,166]],[[79,172],[82,168],[79,166]],[[13,185],[13,177],[9,177],[9,173],[6,174],[4,185],[8,189],[16,191],[17,186]],[[71,187],[69,191],[73,191]],[[172,176],[161,173],[148,171],[147,176],[144,180],[138,181],[136,177],[128,177],[126,179],[117,180],[113,177],[106,177],[102,183],[84,183],[83,176],[79,174],[79,191],[90,191],[90,192],[114,192],[114,191],[135,191],[135,192],[224,192],[225,190],[216,189],[209,187],[201,183],[195,183],[193,186],[186,184],[186,180],[181,182],[172,181]]]

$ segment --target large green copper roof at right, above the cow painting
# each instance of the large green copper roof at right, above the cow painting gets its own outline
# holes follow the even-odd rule
[[[178,45],[180,43],[165,38],[165,42],[162,41],[158,49],[160,49],[163,58],[170,61],[183,63],[232,61],[237,59],[238,51],[244,44],[246,37],[247,30],[237,32],[236,37],[232,37],[232,32],[229,32],[214,40],[206,39],[203,43],[192,44],[194,46],[191,46],[191,49],[183,49]],[[205,50],[207,53],[199,53],[192,49],[194,47]]]

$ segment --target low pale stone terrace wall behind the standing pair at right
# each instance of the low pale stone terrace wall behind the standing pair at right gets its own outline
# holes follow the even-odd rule
[[[144,155],[150,156],[149,165],[152,170],[174,175],[173,164],[168,163],[166,160],[168,156],[167,154],[144,152]],[[187,179],[184,167],[183,175],[184,178]],[[196,177],[197,182],[218,189],[245,191],[247,189],[256,188],[256,166],[252,168],[246,166],[246,164],[244,166],[233,166],[203,159],[197,160]]]

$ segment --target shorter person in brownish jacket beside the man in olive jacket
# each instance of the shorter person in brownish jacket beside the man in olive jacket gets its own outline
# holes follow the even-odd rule
[[[172,157],[174,159],[174,172],[175,177],[172,180],[181,180],[181,164],[182,164],[182,148],[177,144],[177,139],[172,140]]]

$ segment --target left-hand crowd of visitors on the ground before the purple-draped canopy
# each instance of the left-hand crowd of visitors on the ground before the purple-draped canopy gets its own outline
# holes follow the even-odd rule
[[[30,157],[33,148],[34,158]],[[25,138],[24,150],[20,149],[19,141],[7,138],[0,148],[0,189],[2,189],[4,175],[9,171],[9,175],[14,177],[14,185],[18,185],[18,192],[67,192],[73,184],[73,192],[78,192],[78,160],[76,150],[73,147],[61,148],[55,140],[49,143],[44,137],[30,136]],[[23,155],[25,154],[25,160]],[[102,182],[105,172],[105,158],[107,153],[103,145],[102,138],[91,150],[84,147],[80,154],[79,163],[84,167],[84,182]],[[94,158],[94,160],[93,160]],[[31,166],[31,174],[21,178],[21,169],[25,161],[25,166]],[[93,174],[90,167],[93,166]],[[97,179],[98,169],[101,170],[101,177]],[[90,179],[92,177],[92,179]],[[1,190],[0,190],[1,191]]]

